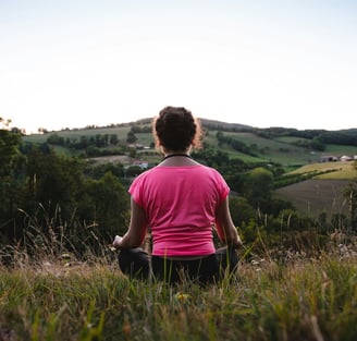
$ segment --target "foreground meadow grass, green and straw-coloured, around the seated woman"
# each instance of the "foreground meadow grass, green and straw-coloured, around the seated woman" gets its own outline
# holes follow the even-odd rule
[[[331,245],[283,261],[242,254],[237,276],[206,289],[130,281],[114,254],[17,249],[0,268],[0,340],[356,340],[356,243]]]

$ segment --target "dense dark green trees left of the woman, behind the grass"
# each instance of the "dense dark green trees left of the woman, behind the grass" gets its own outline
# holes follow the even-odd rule
[[[83,159],[34,146],[25,156],[26,162],[16,169],[22,176],[13,178],[16,186],[12,184],[12,192],[3,194],[3,204],[9,205],[1,206],[2,242],[16,243],[28,224],[46,234],[49,226],[53,233],[65,228],[72,244],[86,238],[90,232],[85,231],[88,226],[98,229],[96,234],[107,240],[125,229],[128,197],[119,179],[110,172],[116,170],[114,167],[96,172],[97,179],[93,179],[85,175],[90,171]]]

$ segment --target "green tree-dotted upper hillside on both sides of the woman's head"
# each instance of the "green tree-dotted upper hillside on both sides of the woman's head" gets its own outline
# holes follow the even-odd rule
[[[357,155],[357,130],[298,131],[284,127],[255,129],[244,124],[206,119],[201,119],[201,122],[206,131],[204,138],[206,148],[226,153],[230,158],[239,158],[249,163],[273,162],[281,165],[286,170],[293,170],[305,165],[317,163],[325,155],[336,157]],[[159,160],[159,155],[153,148],[150,124],[151,119],[143,119],[104,127],[88,126],[33,134],[24,136],[23,141],[25,143],[50,143],[49,141],[52,139],[50,144],[59,153],[85,156],[88,142],[96,144],[96,139],[106,138],[104,145],[96,145],[100,149],[100,154],[104,155],[98,153],[95,155],[96,157],[106,157],[106,160],[110,161],[114,155],[131,154],[136,159],[155,163]],[[128,143],[127,136],[132,132],[136,139]],[[112,136],[115,137],[115,144],[108,143]],[[83,141],[86,141],[87,144],[81,148]]]

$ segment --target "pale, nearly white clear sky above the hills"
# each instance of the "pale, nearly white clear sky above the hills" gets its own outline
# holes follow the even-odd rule
[[[357,1],[0,0],[12,126],[103,126],[165,106],[255,127],[357,127]]]

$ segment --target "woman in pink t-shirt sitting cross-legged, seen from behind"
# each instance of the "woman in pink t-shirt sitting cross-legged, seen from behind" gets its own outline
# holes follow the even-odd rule
[[[121,251],[124,273],[152,275],[170,283],[185,278],[214,282],[226,267],[236,268],[242,245],[229,209],[230,188],[221,174],[195,161],[189,151],[200,146],[201,129],[190,111],[165,107],[153,120],[153,136],[164,157],[132,183],[131,222],[113,246]],[[139,246],[147,229],[152,236],[151,259]],[[216,229],[226,247],[216,251]]]

